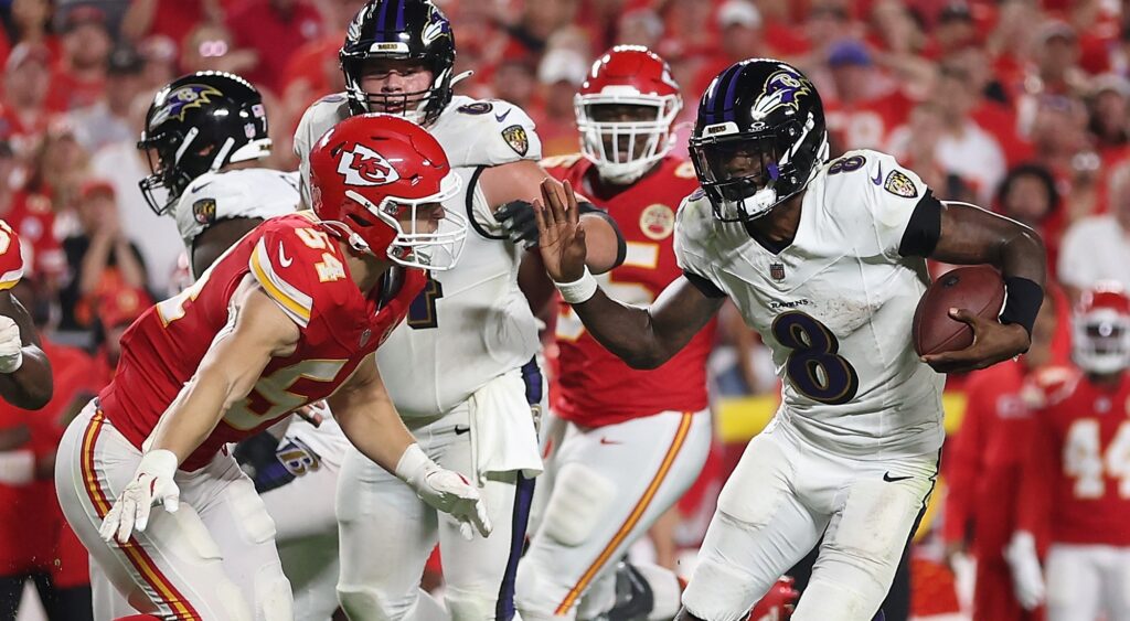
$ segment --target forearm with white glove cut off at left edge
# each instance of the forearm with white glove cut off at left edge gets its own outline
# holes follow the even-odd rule
[[[51,364],[32,316],[10,291],[0,291],[0,396],[17,408],[38,410],[52,391]]]

